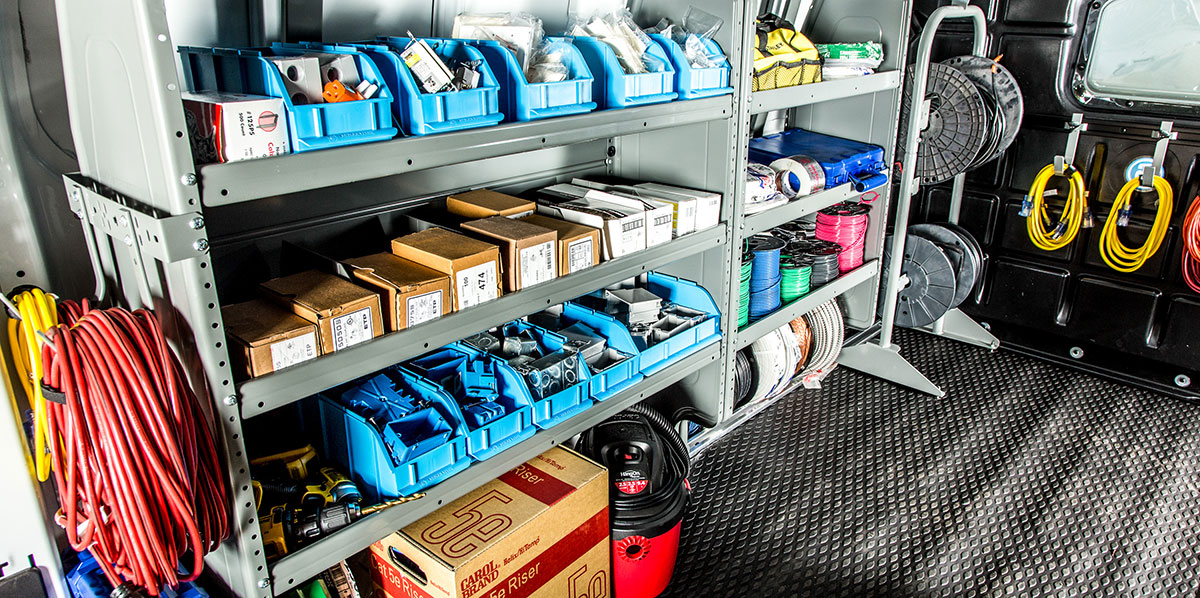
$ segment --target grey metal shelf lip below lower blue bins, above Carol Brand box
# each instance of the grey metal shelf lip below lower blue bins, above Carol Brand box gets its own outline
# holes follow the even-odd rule
[[[460,496],[486,484],[504,472],[538,456],[552,447],[587,430],[622,409],[654,393],[688,377],[701,367],[716,363],[721,355],[721,343],[712,342],[679,363],[648,376],[636,387],[617,396],[598,402],[590,409],[566,421],[541,430],[532,438],[493,456],[472,465],[467,471],[450,477],[428,490],[424,498],[392,507],[342,530],[320,542],[293,552],[270,566],[274,592],[280,594],[296,584],[319,574],[338,561],[366,549],[374,542],[437,510]]]

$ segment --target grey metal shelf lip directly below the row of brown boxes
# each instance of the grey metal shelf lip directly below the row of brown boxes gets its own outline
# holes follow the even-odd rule
[[[238,387],[241,415],[244,418],[260,415],[480,330],[721,246],[725,244],[725,232],[726,225],[718,225],[631,256],[544,282],[534,288],[506,294],[407,330],[386,334],[373,341],[242,382]]]

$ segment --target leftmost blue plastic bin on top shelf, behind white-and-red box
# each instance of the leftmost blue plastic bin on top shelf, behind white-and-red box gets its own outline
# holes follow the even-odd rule
[[[392,126],[389,89],[376,64],[365,54],[338,48],[350,54],[361,77],[379,86],[376,96],[356,102],[295,103],[283,84],[283,74],[268,56],[289,56],[312,52],[304,47],[228,49],[181,46],[184,79],[193,91],[232,91],[283,98],[292,151],[312,151],[358,143],[380,142],[396,137]]]

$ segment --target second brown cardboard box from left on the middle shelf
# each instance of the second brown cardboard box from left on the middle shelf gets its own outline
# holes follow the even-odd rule
[[[331,274],[308,270],[263,283],[268,297],[317,324],[320,352],[332,353],[383,334],[379,295]]]

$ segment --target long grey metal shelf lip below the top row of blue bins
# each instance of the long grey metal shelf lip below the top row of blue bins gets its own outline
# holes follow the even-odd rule
[[[732,116],[732,96],[716,96],[208,165],[200,168],[202,199],[214,208]]]

